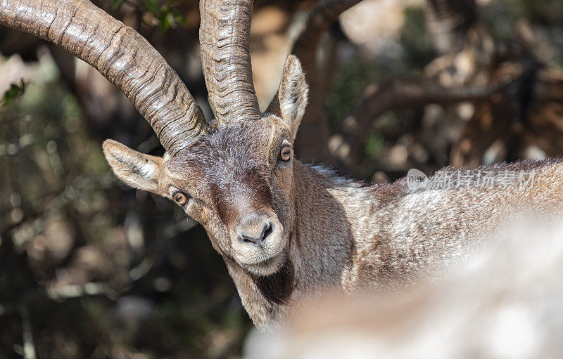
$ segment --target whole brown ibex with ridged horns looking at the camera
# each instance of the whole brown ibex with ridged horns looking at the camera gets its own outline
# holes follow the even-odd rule
[[[381,290],[410,282],[479,247],[519,208],[559,208],[558,160],[483,168],[535,171],[533,186],[366,185],[308,166],[293,153],[308,85],[287,58],[279,91],[260,113],[248,51],[252,0],[201,1],[201,62],[215,119],[207,122],[176,72],[132,28],[87,0],[1,0],[0,23],[52,41],[96,67],[132,100],[166,152],[115,141],[103,151],[116,176],[170,198],[203,225],[258,327],[317,289]],[[467,176],[469,174],[469,176]]]

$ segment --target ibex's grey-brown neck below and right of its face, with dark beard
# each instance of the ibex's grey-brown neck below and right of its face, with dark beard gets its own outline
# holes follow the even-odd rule
[[[321,167],[308,167],[298,161],[293,167],[295,221],[289,240],[291,260],[279,273],[266,278],[253,278],[234,261],[227,260],[243,306],[258,327],[272,327],[288,305],[310,292],[342,289],[355,253],[350,209],[343,207],[340,197],[361,195],[360,186],[330,178]]]

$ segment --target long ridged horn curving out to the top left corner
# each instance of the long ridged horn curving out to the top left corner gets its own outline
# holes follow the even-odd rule
[[[87,0],[0,0],[0,24],[72,53],[118,87],[170,155],[205,132],[203,112],[160,53]]]

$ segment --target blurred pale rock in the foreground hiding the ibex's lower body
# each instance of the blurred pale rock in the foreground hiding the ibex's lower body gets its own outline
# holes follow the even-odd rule
[[[563,222],[507,224],[431,284],[382,298],[324,293],[282,332],[247,337],[243,358],[559,358]]]

